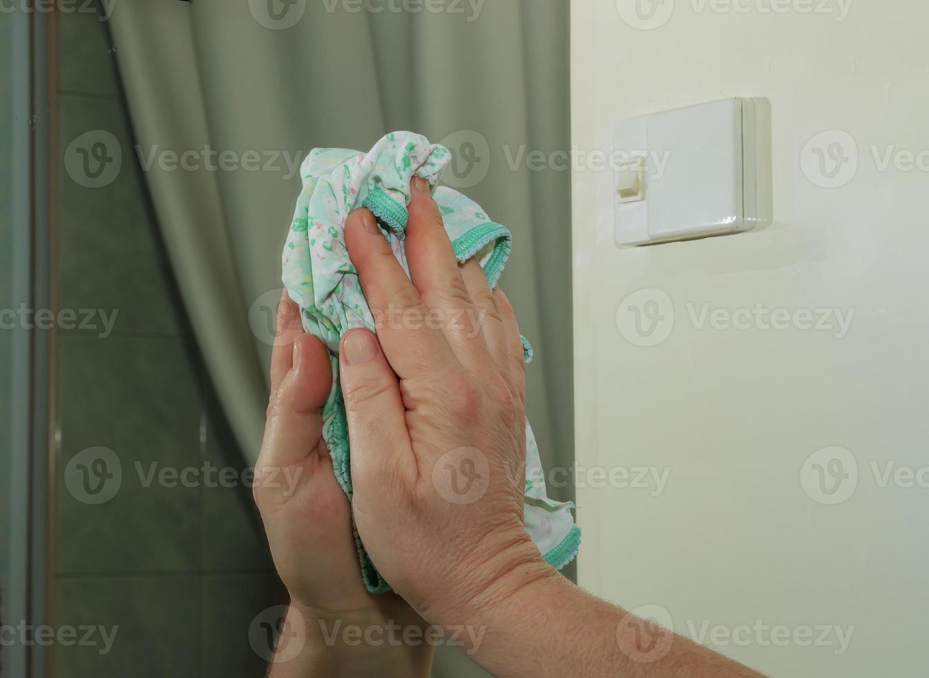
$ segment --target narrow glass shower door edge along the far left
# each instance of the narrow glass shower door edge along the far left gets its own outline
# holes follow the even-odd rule
[[[33,46],[40,21],[18,5],[0,12],[0,676],[42,670],[34,632],[45,615],[46,465],[33,453],[34,385],[45,360],[33,357],[36,200],[33,152],[45,121],[33,115]],[[36,206],[36,205],[40,206]],[[38,531],[36,531],[38,530]],[[38,549],[38,550],[36,550]]]

